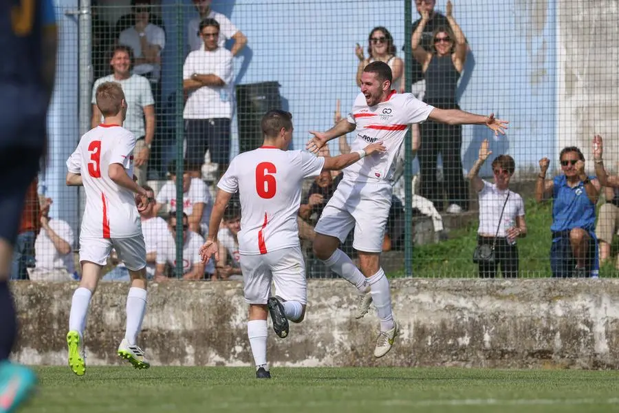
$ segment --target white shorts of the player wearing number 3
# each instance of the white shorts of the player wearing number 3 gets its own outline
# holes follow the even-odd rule
[[[116,250],[118,259],[131,271],[146,266],[146,246],[144,235],[130,238],[82,238],[80,237],[80,262],[89,261],[105,266],[111,248]]]

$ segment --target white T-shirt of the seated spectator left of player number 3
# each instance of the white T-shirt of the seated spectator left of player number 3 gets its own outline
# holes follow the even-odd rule
[[[69,245],[74,244],[75,235],[66,221],[50,220],[50,228]],[[43,270],[65,268],[70,274],[75,271],[73,253],[69,252],[64,255],[59,253],[45,229],[41,229],[34,242],[34,258],[36,259],[36,268]]]

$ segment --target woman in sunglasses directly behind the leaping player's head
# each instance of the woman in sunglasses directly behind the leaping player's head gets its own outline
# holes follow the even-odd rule
[[[357,86],[361,86],[361,74],[365,67],[374,61],[382,61],[387,63],[391,68],[391,75],[393,81],[391,82],[391,89],[394,89],[398,93],[404,93],[404,84],[402,80],[402,74],[404,73],[404,62],[398,56],[395,56],[395,45],[393,45],[393,37],[387,28],[379,26],[373,28],[367,39],[367,59],[363,55],[363,48],[357,43],[355,48],[355,54],[360,60],[357,67],[357,74],[355,76]]]

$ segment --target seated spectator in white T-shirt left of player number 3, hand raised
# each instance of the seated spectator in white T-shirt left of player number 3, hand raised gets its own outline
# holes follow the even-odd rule
[[[68,222],[50,218],[52,199],[41,208],[41,231],[34,242],[36,266],[28,268],[31,281],[78,279],[73,260],[75,236]]]

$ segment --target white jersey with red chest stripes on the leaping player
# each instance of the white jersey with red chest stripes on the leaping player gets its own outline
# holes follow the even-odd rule
[[[367,156],[344,169],[344,179],[352,182],[384,182],[393,180],[395,162],[402,149],[410,123],[420,123],[432,112],[431,105],[418,100],[411,93],[391,91],[386,101],[369,107],[360,93],[355,99],[349,123],[357,125],[351,151],[363,149],[370,143],[382,141],[387,151]]]

